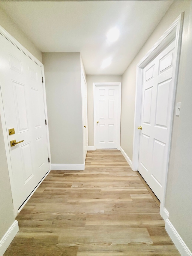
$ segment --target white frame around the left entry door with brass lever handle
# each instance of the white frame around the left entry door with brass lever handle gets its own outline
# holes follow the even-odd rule
[[[44,111],[45,111],[45,118],[47,120],[47,107],[46,107],[46,93],[45,93],[45,75],[44,75],[44,65],[37,59],[35,56],[33,56],[25,47],[23,47],[15,38],[12,37],[3,27],[0,26],[0,34],[3,35],[7,40],[9,40],[12,44],[14,44],[19,50],[21,50],[23,53],[25,53],[30,59],[32,59],[35,63],[37,63],[41,67],[42,77],[43,77],[43,97],[44,97]],[[1,79],[1,78],[0,78]],[[15,191],[14,191],[14,180],[13,180],[13,174],[12,174],[12,168],[11,168],[11,159],[10,159],[10,152],[9,152],[9,140],[7,137],[7,128],[5,123],[5,116],[4,116],[4,109],[3,109],[3,101],[2,101],[2,95],[1,95],[1,80],[0,80],[0,115],[1,115],[1,122],[2,122],[2,128],[3,128],[3,137],[4,137],[4,146],[5,146],[5,152],[7,157],[7,166],[9,171],[9,179],[10,179],[10,187],[11,187],[11,194],[13,199],[13,210],[15,217],[18,214],[18,212],[23,208],[23,206],[27,203],[27,201],[30,199],[32,194],[34,194],[35,190],[38,188],[38,186],[41,184],[41,181],[38,186],[35,188],[35,190],[30,194],[30,196],[26,199],[26,201],[23,203],[23,205],[20,207],[19,211],[16,208],[15,205]],[[49,143],[49,127],[48,127],[48,121],[46,125],[46,138],[47,138],[47,147],[48,147],[48,157],[49,157],[49,172],[51,170],[51,152],[50,152],[50,143]],[[48,159],[47,159],[48,161]],[[49,173],[48,172],[48,173]],[[48,173],[46,175],[48,175]],[[46,177],[46,176],[45,176]],[[45,178],[44,177],[44,178]]]

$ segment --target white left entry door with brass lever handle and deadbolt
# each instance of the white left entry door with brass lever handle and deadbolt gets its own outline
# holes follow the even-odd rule
[[[41,67],[0,35],[0,86],[17,209],[49,171]],[[9,135],[14,128],[15,134]],[[23,142],[10,146],[10,141]]]

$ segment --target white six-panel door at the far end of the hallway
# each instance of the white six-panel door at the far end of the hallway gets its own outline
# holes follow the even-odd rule
[[[94,137],[96,149],[117,149],[120,128],[120,85],[95,86]]]

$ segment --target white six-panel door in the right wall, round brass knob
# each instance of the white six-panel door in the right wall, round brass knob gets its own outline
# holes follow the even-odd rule
[[[168,159],[175,41],[143,69],[138,170],[161,201]]]

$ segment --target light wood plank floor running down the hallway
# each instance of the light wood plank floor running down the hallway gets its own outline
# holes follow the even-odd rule
[[[53,170],[17,216],[4,256],[179,256],[159,206],[118,150]]]

